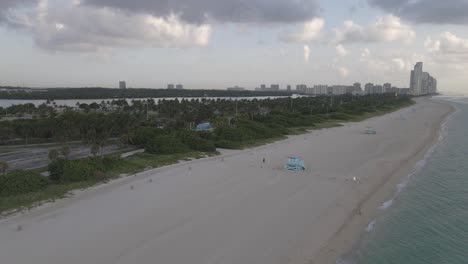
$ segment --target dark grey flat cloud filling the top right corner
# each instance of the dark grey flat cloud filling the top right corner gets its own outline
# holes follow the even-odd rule
[[[416,23],[467,24],[466,0],[368,0],[369,4]]]

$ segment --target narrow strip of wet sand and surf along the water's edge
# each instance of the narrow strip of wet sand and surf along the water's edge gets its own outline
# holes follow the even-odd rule
[[[440,104],[448,104],[447,102],[435,101],[432,98],[430,100]],[[367,232],[366,229],[382,213],[380,207],[383,203],[395,197],[398,184],[406,177],[410,177],[417,170],[417,163],[424,160],[431,148],[439,144],[442,126],[456,112],[455,107],[450,105],[450,108],[451,110],[438,120],[437,125],[431,128],[431,137],[426,140],[426,144],[418,148],[411,159],[400,164],[400,167],[396,167],[391,174],[384,176],[380,185],[359,202],[340,229],[310,260],[309,264],[338,263],[343,256],[358,246],[364,232]],[[358,211],[359,213],[357,213]]]

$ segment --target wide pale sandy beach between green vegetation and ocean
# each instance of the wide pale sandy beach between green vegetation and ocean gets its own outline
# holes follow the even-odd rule
[[[78,192],[1,219],[0,262],[335,263],[452,111],[418,98],[385,116]],[[364,134],[367,126],[377,134]],[[289,156],[307,170],[285,171]]]

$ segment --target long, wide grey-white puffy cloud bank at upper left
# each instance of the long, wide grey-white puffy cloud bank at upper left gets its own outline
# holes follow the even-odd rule
[[[175,14],[156,17],[83,6],[76,0],[70,3],[57,7],[39,0],[34,11],[11,13],[8,23],[31,33],[41,48],[53,51],[205,46],[212,32],[211,25],[188,24]]]

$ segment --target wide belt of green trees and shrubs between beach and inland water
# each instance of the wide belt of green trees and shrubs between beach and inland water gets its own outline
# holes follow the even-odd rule
[[[15,171],[0,180],[0,212],[29,207],[35,202],[65,196],[123,174],[133,174],[215,153],[216,148],[241,149],[266,144],[310,129],[339,126],[411,105],[410,97],[374,95],[303,97],[267,100],[152,100],[114,101],[115,111],[71,111],[45,119],[0,122],[3,142],[78,140],[92,145],[94,157],[66,159],[69,149],[50,153],[50,176],[38,171]],[[150,115],[149,112],[152,111]],[[193,125],[210,121],[213,131],[194,131]],[[0,133],[1,134],[1,133]],[[145,153],[121,159],[116,154],[98,157],[109,138],[144,148]],[[1,140],[1,139],[0,139]],[[1,142],[1,141],[0,141]],[[60,155],[61,154],[61,155]],[[65,157],[65,158],[61,158]],[[23,186],[24,185],[24,186]]]

